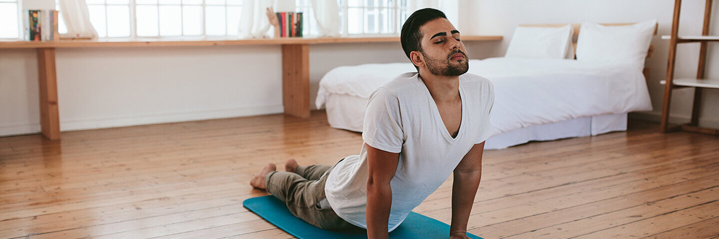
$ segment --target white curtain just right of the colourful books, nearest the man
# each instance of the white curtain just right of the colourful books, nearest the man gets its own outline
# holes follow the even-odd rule
[[[320,37],[339,37],[339,6],[337,0],[312,0]]]

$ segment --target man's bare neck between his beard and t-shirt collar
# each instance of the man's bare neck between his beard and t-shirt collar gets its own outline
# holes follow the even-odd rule
[[[421,72],[420,78],[436,103],[460,100],[459,76],[433,75],[428,71]]]

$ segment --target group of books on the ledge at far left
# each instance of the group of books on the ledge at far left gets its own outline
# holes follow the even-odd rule
[[[27,10],[24,12],[24,39],[31,42],[55,41],[58,34],[58,11]]]

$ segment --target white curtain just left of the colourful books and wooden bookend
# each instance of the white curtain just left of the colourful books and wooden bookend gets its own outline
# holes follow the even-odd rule
[[[272,7],[275,12],[295,11],[294,0],[244,0],[242,2],[242,15],[239,17],[239,38],[260,38],[273,35],[272,25],[265,12]]]

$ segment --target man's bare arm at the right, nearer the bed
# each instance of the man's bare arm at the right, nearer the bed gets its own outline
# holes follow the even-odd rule
[[[485,142],[475,144],[454,168],[452,182],[452,226],[450,238],[467,238],[467,221],[482,178],[482,153]]]

